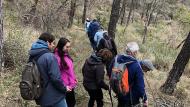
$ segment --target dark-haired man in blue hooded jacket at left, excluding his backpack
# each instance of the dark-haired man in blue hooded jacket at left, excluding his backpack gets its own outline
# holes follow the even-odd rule
[[[42,107],[67,107],[65,94],[71,89],[62,82],[58,63],[54,54],[50,52],[55,46],[54,40],[52,34],[42,33],[29,51],[30,58],[40,55],[44,50],[48,51],[41,55],[36,62],[43,80],[42,95],[36,100],[36,103]]]

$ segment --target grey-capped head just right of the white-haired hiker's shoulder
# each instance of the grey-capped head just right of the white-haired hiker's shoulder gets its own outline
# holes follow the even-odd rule
[[[141,65],[141,68],[144,72],[147,72],[147,71],[152,71],[154,70],[154,65],[152,64],[152,62],[148,59],[145,59],[145,60],[141,60],[140,61],[140,65]]]

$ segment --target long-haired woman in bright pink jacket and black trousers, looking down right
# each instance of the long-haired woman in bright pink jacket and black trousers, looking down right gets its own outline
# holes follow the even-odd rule
[[[66,38],[60,38],[54,54],[59,64],[61,78],[64,84],[72,90],[66,93],[67,105],[68,107],[74,107],[76,104],[74,89],[77,85],[77,79],[74,73],[73,60],[69,56],[70,48],[70,41]]]

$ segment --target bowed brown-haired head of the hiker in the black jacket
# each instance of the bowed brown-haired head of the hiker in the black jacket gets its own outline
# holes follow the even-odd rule
[[[99,50],[97,56],[102,58],[103,63],[106,63],[113,58],[112,52],[106,48]]]

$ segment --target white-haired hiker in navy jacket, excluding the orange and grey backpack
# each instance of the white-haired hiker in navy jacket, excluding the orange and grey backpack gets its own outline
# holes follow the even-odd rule
[[[143,71],[139,61],[136,59],[139,46],[136,42],[129,42],[126,47],[126,53],[117,55],[110,64],[109,77],[111,72],[117,65],[114,65],[115,60],[118,64],[125,64],[128,69],[129,92],[127,94],[119,94],[118,107],[133,107],[140,104],[140,99],[143,100],[144,105],[147,105],[147,96],[145,93],[145,83],[143,78]],[[127,84],[128,84],[127,82]]]

